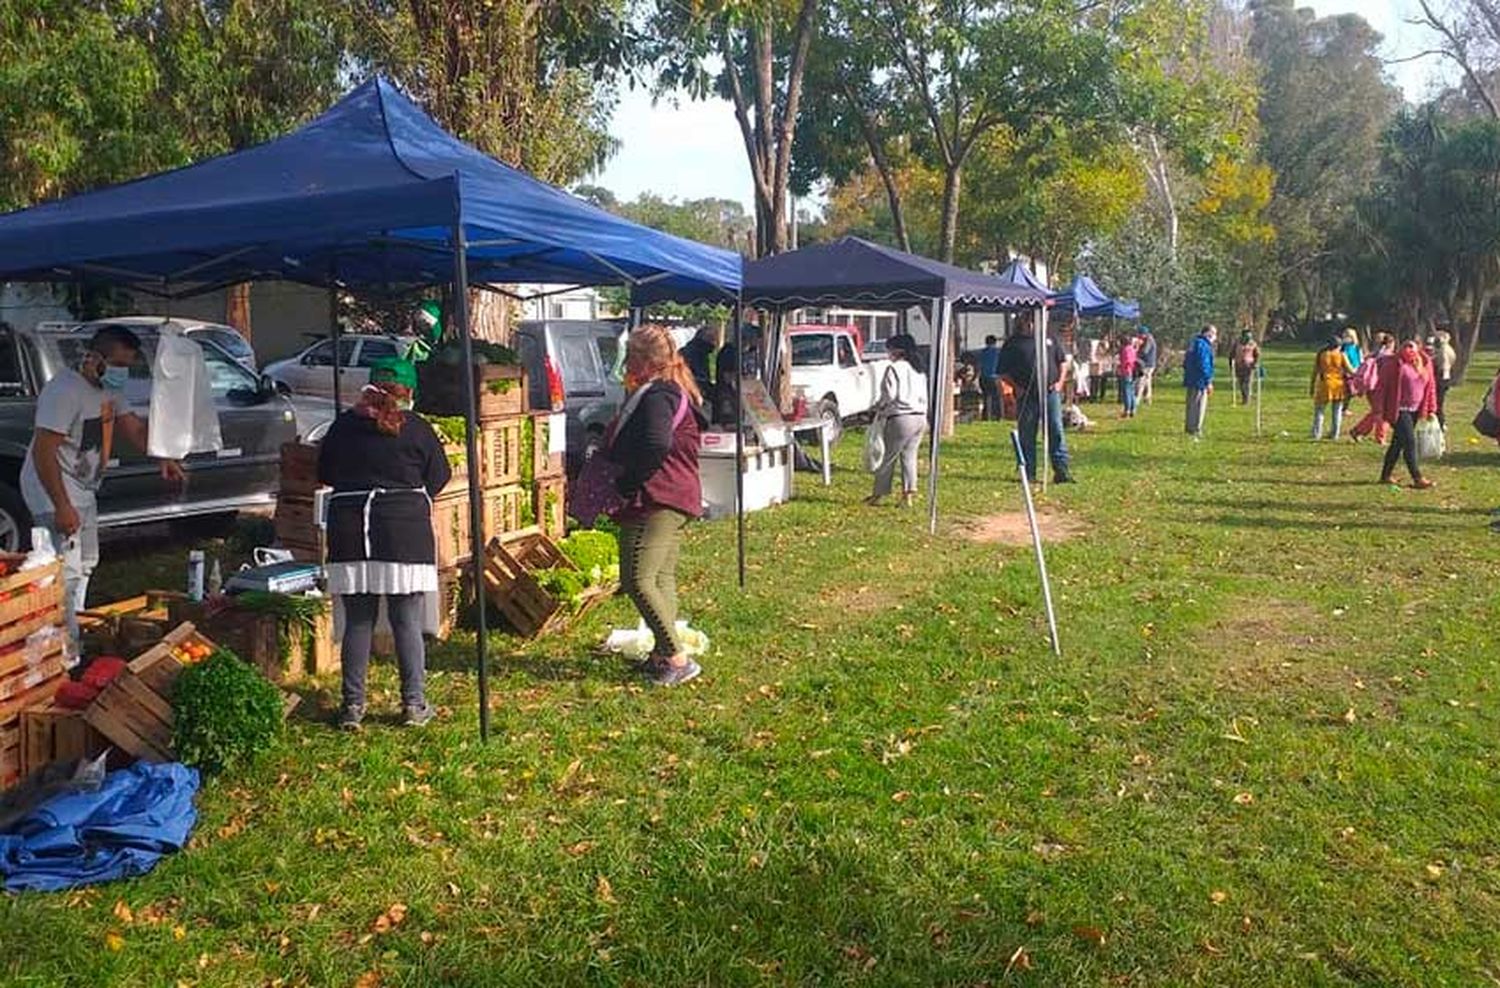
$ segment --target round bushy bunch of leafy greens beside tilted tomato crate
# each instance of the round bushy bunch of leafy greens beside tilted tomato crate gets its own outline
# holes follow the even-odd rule
[[[280,735],[282,720],[280,690],[228,649],[177,676],[172,748],[204,772],[250,765]]]

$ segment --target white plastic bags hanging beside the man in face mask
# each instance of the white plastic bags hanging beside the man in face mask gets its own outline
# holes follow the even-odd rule
[[[202,348],[174,325],[162,327],[156,340],[147,447],[150,456],[166,460],[224,448]]]

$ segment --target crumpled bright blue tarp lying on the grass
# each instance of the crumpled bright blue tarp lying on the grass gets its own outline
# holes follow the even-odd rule
[[[0,879],[8,892],[56,892],[146,874],[188,841],[196,792],[196,769],[141,762],[50,799],[0,834]]]

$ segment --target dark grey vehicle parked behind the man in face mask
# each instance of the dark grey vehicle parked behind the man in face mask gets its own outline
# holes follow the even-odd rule
[[[130,367],[124,400],[130,411],[148,418],[158,333],[138,322],[126,325],[141,337],[142,360]],[[333,417],[332,403],[290,400],[270,378],[250,373],[212,340],[201,334],[190,339],[202,346],[208,364],[224,448],[189,456],[183,462],[188,484],[178,492],[162,481],[144,453],[118,447],[120,456],[110,462],[99,489],[104,528],[274,504],[282,444],[318,438]],[[0,330],[0,549],[16,550],[30,541],[32,517],[21,499],[20,477],[32,442],[36,396],[58,370],[76,367],[87,345],[88,336],[75,328]]]

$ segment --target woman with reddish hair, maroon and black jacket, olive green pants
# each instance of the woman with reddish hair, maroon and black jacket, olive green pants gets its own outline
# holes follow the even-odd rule
[[[676,636],[676,559],[687,523],[704,508],[699,435],[708,426],[693,372],[660,325],[644,325],[626,345],[626,399],[608,441],[620,466],[620,580],[656,648],[646,675],[675,687],[702,669]]]

